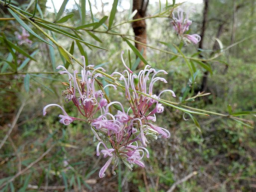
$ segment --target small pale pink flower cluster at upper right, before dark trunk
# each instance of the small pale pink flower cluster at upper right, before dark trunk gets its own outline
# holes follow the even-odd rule
[[[189,30],[189,26],[192,24],[192,21],[188,19],[188,14],[184,13],[182,9],[178,9],[177,15],[178,18],[175,17],[174,13],[173,15],[173,28],[175,31],[178,32],[178,35],[183,38],[184,41],[188,43],[194,43],[197,44],[199,41],[201,41],[201,37],[198,34],[184,34],[185,31]],[[185,15],[185,17],[184,17]]]

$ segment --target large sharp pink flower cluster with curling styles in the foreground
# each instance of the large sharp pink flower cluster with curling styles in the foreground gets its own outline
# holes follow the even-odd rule
[[[82,56],[84,60],[84,56]],[[121,86],[126,93],[127,106],[125,108],[118,101],[108,102],[105,98],[103,90],[111,86],[117,89],[114,84],[108,84],[101,90],[96,90],[95,81],[97,77],[102,77],[105,71],[98,67],[93,71],[86,70],[85,61],[84,68],[81,71],[81,80],[77,78],[77,71],[72,74],[64,67],[58,66],[57,69],[63,69],[60,74],[67,74],[69,87],[63,91],[66,102],[72,101],[84,119],[70,117],[64,108],[57,104],[50,104],[44,107],[43,114],[49,106],[58,106],[63,114],[59,115],[60,122],[68,125],[75,120],[85,121],[90,124],[91,130],[95,138],[99,141],[96,148],[96,155],[102,154],[104,158],[108,158],[105,165],[99,171],[99,177],[105,176],[105,171],[112,165],[112,174],[115,174],[115,167],[119,161],[132,170],[133,165],[137,164],[144,167],[142,158],[146,153],[149,158],[149,152],[146,149],[147,144],[158,137],[168,138],[170,132],[163,127],[158,127],[154,123],[156,114],[162,113],[164,107],[158,102],[164,92],[172,90],[163,90],[158,95],[154,94],[154,85],[157,81],[167,83],[159,74],[167,74],[164,70],[158,70],[146,65],[138,74],[132,72],[124,63],[123,52],[121,59],[127,70],[123,73],[113,72],[111,76],[120,77],[124,86]],[[93,67],[89,65],[88,67]],[[124,103],[124,102],[123,102]],[[114,112],[115,111],[115,112]],[[100,149],[100,147],[102,149]]]

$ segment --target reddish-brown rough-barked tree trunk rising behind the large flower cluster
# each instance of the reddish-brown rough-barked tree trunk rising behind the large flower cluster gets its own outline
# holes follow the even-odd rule
[[[149,0],[133,0],[132,10],[137,10],[138,12],[133,17],[133,19],[144,18],[146,13],[146,8],[148,6]],[[146,21],[140,20],[132,22],[132,28],[135,34],[135,40],[141,43],[146,44]],[[143,57],[146,58],[146,46],[135,43],[135,47],[141,52],[143,49]],[[142,68],[144,63],[141,61],[137,67],[137,69]]]

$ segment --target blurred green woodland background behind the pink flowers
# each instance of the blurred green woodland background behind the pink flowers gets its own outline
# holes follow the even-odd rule
[[[167,128],[171,137],[149,145],[150,158],[144,160],[145,168],[129,171],[122,164],[118,174],[108,170],[107,176],[99,179],[98,171],[105,161],[96,156],[89,125],[75,121],[64,126],[55,108],[42,115],[49,103],[61,103],[69,114],[77,115],[61,93],[66,89],[61,82],[67,80],[55,69],[60,64],[69,66],[65,54],[33,35],[29,37],[32,43],[19,44],[15,32],[22,34],[22,27],[0,1],[1,191],[256,191],[255,0],[176,4],[149,0],[145,11],[138,10],[136,15],[130,6],[132,1],[119,0],[112,30],[106,30],[109,18],[101,19],[110,15],[113,1],[77,0],[62,14],[52,2],[57,1],[13,0],[10,6],[29,12],[31,15],[23,13],[30,17],[36,10],[32,18],[47,34],[80,61],[86,52],[89,64],[103,66],[108,74],[124,70],[121,50],[133,70],[144,65],[141,57],[136,58],[139,53],[134,51],[133,24],[128,22],[142,13],[141,17],[147,18],[142,20],[147,46],[137,48],[152,67],[168,72],[168,84],[161,86],[174,90],[177,97],[165,99],[187,109],[201,109],[199,112],[210,117],[191,117],[165,106],[157,124]],[[171,13],[178,7],[189,12],[190,32],[201,35],[199,44],[183,44],[177,38]],[[161,17],[165,10],[169,10],[168,14]],[[55,19],[58,21],[53,23]],[[25,22],[44,38],[38,28]],[[97,28],[89,25],[80,31],[75,29],[95,22]],[[87,46],[67,34],[108,51]],[[193,78],[188,65],[193,67]],[[102,83],[106,80],[102,79]],[[156,89],[162,90],[161,86]],[[107,94],[110,99],[124,98],[123,93],[112,93],[111,89]]]

